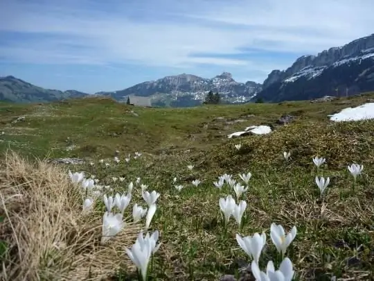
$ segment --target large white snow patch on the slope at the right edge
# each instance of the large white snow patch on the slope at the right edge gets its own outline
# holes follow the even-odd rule
[[[344,108],[341,112],[329,115],[331,121],[359,121],[374,119],[374,103],[365,103],[357,108]]]

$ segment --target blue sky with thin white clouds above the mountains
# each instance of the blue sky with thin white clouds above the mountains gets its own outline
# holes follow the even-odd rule
[[[374,1],[0,0],[0,76],[99,92],[182,73],[259,83],[373,33]]]

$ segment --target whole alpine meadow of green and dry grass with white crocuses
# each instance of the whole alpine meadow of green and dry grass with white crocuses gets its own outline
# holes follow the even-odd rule
[[[370,101],[0,103],[1,279],[373,280]]]

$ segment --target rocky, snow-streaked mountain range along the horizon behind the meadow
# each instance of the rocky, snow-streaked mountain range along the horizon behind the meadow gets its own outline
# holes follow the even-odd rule
[[[225,103],[279,102],[315,99],[325,95],[346,96],[374,90],[374,34],[317,56],[301,56],[291,67],[273,70],[261,84],[239,83],[223,72],[213,78],[180,74],[136,84],[124,90],[98,92],[126,101],[127,96],[149,97],[152,105],[185,107],[199,105],[208,91],[219,92]],[[75,90],[47,90],[13,76],[0,77],[0,100],[47,102],[80,98]]]

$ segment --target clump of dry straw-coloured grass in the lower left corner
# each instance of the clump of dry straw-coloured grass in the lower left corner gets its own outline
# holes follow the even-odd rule
[[[127,225],[101,246],[102,214],[82,214],[80,191],[59,167],[8,152],[0,191],[0,240],[8,245],[1,280],[102,280],[130,265],[123,248],[139,229]]]

